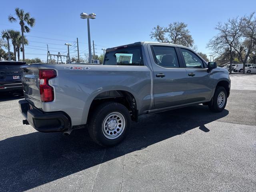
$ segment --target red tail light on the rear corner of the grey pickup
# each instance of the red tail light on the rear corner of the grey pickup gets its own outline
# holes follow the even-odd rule
[[[48,84],[48,80],[56,76],[55,70],[39,70],[39,89],[42,102],[54,100],[53,87]]]

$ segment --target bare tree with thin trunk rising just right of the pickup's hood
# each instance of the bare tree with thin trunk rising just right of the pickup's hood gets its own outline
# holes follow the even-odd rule
[[[219,22],[215,29],[218,30],[218,34],[209,41],[207,47],[219,54],[228,49],[230,55],[229,73],[231,74],[233,47],[235,46],[238,39],[242,36],[241,20],[238,18],[233,18],[228,19],[228,22],[224,24]]]

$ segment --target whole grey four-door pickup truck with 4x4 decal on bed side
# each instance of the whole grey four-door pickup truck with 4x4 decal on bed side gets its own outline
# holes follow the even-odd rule
[[[221,112],[230,93],[228,71],[179,45],[137,42],[108,48],[104,64],[21,67],[20,110],[40,132],[88,127],[102,146],[121,142],[142,114],[194,104]],[[88,125],[88,126],[85,126]]]

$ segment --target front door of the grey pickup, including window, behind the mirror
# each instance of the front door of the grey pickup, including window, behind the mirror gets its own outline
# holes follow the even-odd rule
[[[186,66],[188,87],[186,90],[187,102],[209,100],[213,90],[213,74],[208,72],[205,62],[193,51],[178,48],[182,61]]]

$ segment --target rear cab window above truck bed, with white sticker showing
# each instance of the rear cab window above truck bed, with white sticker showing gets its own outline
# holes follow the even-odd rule
[[[141,47],[122,48],[106,52],[104,65],[144,65]]]

